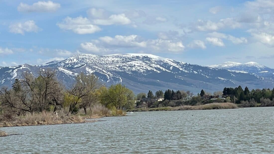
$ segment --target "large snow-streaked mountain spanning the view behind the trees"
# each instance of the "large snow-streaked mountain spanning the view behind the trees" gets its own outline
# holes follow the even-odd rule
[[[250,88],[274,87],[271,79],[258,75],[192,65],[152,54],[80,54],[43,65],[0,67],[0,86],[10,87],[14,79],[20,79],[25,71],[37,76],[40,69],[55,71],[57,78],[65,85],[72,84],[75,77],[84,72],[95,74],[106,86],[122,83],[135,93],[165,89],[219,91],[224,87],[239,85]]]

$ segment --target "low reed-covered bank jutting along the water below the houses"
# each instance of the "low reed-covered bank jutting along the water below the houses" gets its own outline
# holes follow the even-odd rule
[[[127,111],[132,112],[142,112],[142,111],[181,111],[181,110],[212,110],[212,109],[237,109],[238,106],[234,103],[210,103],[204,105],[185,105],[177,107],[157,107],[157,108],[148,108],[148,109],[130,109]]]

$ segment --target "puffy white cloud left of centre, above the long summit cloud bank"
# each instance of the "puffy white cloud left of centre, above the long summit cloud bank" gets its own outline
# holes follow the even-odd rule
[[[82,16],[76,18],[66,17],[57,25],[63,30],[72,30],[76,34],[92,34],[101,31],[100,27],[93,25],[89,19]]]

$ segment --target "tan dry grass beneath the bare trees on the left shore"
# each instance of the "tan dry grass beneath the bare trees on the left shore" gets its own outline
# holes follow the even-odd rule
[[[50,125],[50,124],[67,124],[67,123],[84,123],[85,117],[70,116],[64,113],[58,113],[56,117],[52,112],[41,112],[28,114],[25,116],[12,116],[12,118],[0,117],[0,127],[9,126],[34,126],[34,125]]]

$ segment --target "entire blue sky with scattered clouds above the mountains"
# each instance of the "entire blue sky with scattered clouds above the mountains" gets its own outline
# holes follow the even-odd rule
[[[146,53],[274,68],[273,0],[0,0],[0,66]]]

